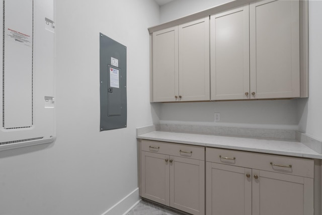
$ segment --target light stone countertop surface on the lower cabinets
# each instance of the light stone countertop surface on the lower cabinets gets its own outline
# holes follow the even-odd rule
[[[137,138],[195,146],[322,159],[321,154],[313,151],[301,142],[296,141],[166,131],[152,131],[145,134],[138,134]]]

